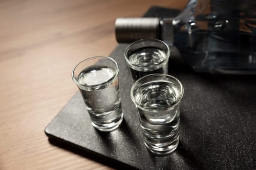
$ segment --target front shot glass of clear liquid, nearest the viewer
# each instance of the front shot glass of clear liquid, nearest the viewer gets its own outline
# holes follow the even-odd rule
[[[132,85],[131,100],[150,152],[163,155],[177,148],[183,91],[180,81],[166,74],[150,74]]]

